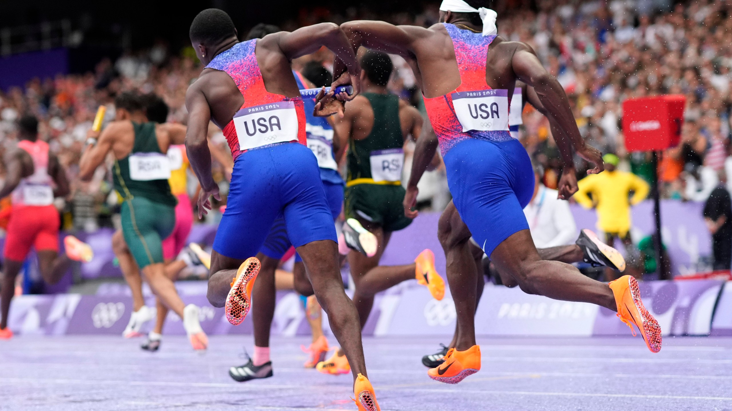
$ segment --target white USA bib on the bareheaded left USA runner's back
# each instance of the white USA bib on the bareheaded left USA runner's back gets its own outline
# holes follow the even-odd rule
[[[242,108],[234,115],[239,150],[297,140],[294,102],[273,102]]]

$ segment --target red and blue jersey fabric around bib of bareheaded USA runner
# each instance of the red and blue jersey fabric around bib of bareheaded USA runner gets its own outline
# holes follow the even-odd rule
[[[266,91],[264,79],[257,63],[257,56],[255,55],[257,40],[251,39],[246,42],[236,43],[233,47],[214,57],[206,68],[226,72],[234,80],[236,88],[239,88],[242,96],[244,96],[244,104],[239,113],[245,108],[268,105],[269,103],[288,102],[288,104],[294,104],[298,122],[296,141],[305,145],[305,108],[302,98],[289,98]],[[237,135],[233,118],[222,131],[228,141],[229,148],[231,148],[231,156],[236,160],[239,154],[247,150],[240,148],[239,137],[242,136]]]

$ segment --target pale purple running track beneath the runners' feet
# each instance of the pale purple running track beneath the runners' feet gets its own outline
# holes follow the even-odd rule
[[[212,336],[199,355],[182,336],[159,352],[116,336],[0,340],[0,410],[356,410],[351,376],[302,369],[305,338],[272,339],[275,376],[238,383],[251,336]],[[731,410],[732,339],[479,339],[482,370],[458,385],[420,363],[439,339],[366,338],[381,410]],[[447,342],[447,341],[443,341]]]

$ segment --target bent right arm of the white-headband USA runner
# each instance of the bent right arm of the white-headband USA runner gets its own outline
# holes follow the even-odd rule
[[[604,170],[599,152],[587,146],[580,135],[575,116],[572,114],[572,109],[569,108],[567,94],[564,94],[564,88],[544,69],[534,50],[529,45],[519,43],[513,53],[511,64],[516,77],[534,88],[539,101],[547,110],[548,118],[555,121],[567,134],[572,146],[577,150],[577,154],[595,165],[594,169],[589,170],[588,173],[597,174]]]

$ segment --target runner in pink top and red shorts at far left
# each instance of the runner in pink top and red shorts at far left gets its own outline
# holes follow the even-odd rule
[[[47,284],[56,284],[66,274],[72,260],[89,262],[91,247],[72,235],[64,238],[66,253],[59,255],[59,211],[54,197],[69,194],[66,171],[59,159],[48,151],[48,143],[38,138],[38,120],[26,115],[18,121],[18,148],[5,158],[7,176],[0,198],[12,195],[10,222],[4,250],[4,277],[1,292],[0,339],[10,339],[7,328],[10,300],[15,293],[15,277],[34,246]]]

